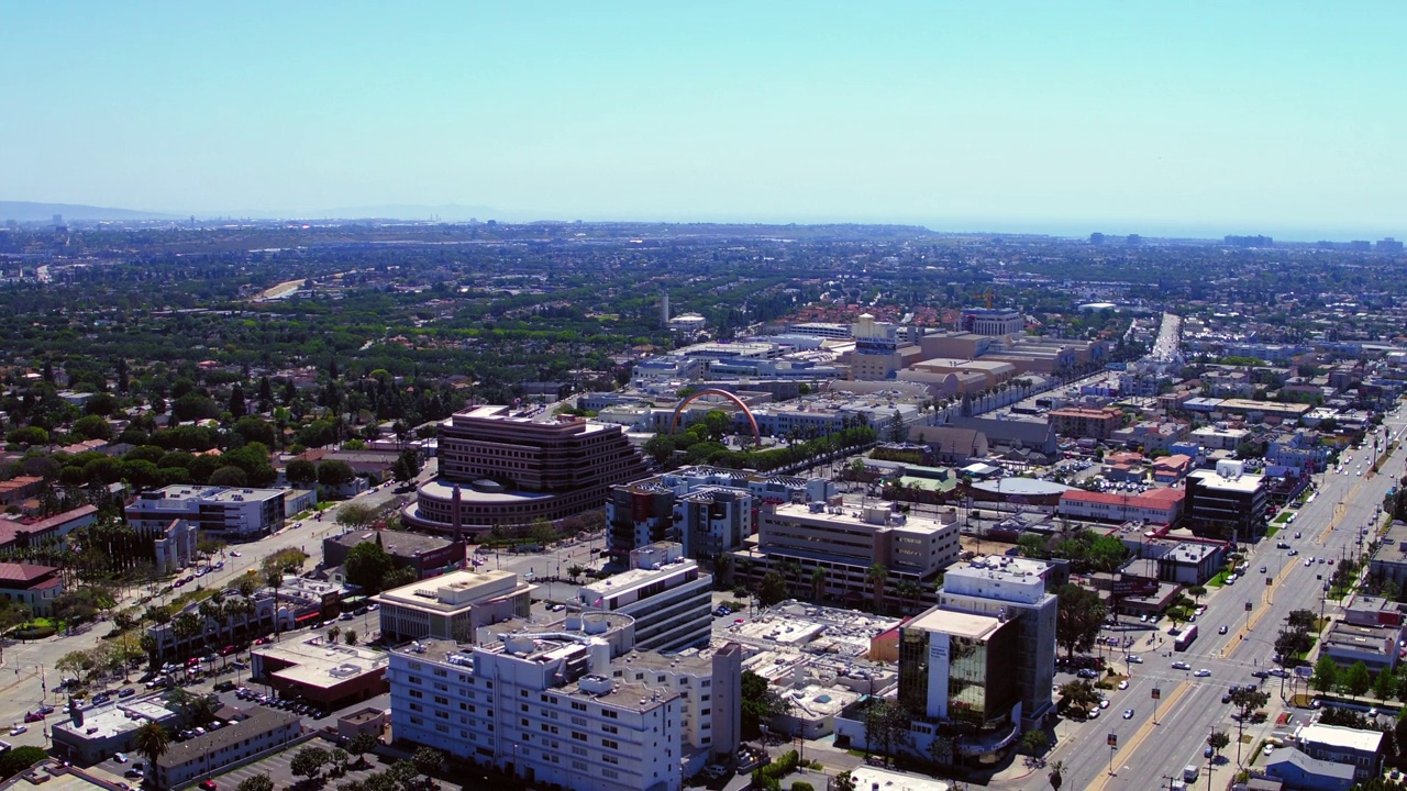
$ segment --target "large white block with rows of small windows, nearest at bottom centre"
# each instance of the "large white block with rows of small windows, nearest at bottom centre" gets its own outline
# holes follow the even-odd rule
[[[424,640],[394,650],[387,677],[398,742],[574,791],[682,785],[680,695],[616,678],[604,640],[504,635],[467,650]]]

